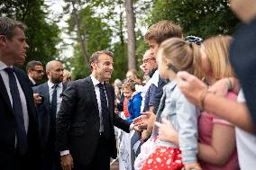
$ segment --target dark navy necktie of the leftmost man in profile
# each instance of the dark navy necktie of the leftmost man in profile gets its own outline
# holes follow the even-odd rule
[[[27,134],[24,126],[24,119],[23,119],[23,106],[21,102],[21,97],[18,89],[18,85],[16,82],[16,78],[14,76],[14,69],[11,67],[6,67],[5,72],[9,76],[9,85],[10,91],[13,98],[13,110],[14,110],[14,117],[16,120],[16,133],[17,133],[17,147],[21,154],[25,154],[28,149],[28,141],[27,141]]]

